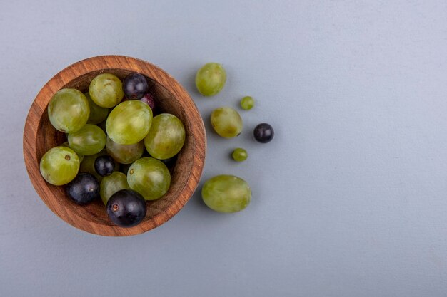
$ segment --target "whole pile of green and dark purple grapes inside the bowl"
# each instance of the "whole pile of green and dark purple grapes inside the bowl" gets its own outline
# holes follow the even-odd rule
[[[139,73],[130,73],[123,82],[110,73],[97,75],[85,94],[59,90],[48,115],[68,142],[41,158],[42,177],[50,184],[65,184],[77,204],[101,197],[112,222],[136,226],[146,216],[145,201],[168,191],[168,166],[185,142],[181,120],[169,113],[154,116],[154,108],[154,94]]]

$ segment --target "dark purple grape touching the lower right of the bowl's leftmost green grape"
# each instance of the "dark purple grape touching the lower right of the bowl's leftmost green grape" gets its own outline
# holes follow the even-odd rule
[[[89,173],[79,173],[66,186],[66,192],[77,204],[88,204],[99,197],[99,182]]]

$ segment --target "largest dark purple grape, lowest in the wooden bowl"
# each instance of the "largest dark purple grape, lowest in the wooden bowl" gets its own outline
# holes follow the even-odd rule
[[[121,189],[113,194],[106,208],[111,221],[121,227],[136,226],[146,216],[146,201],[132,189]]]

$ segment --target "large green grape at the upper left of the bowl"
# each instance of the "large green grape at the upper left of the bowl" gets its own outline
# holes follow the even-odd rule
[[[61,89],[48,104],[51,125],[64,133],[76,132],[89,120],[89,101],[76,89]]]

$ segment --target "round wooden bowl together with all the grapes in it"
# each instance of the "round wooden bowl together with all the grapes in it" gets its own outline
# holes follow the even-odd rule
[[[205,151],[204,123],[186,90],[125,56],[89,58],[55,75],[24,130],[41,199],[69,224],[106,236],[140,234],[179,212]]]

